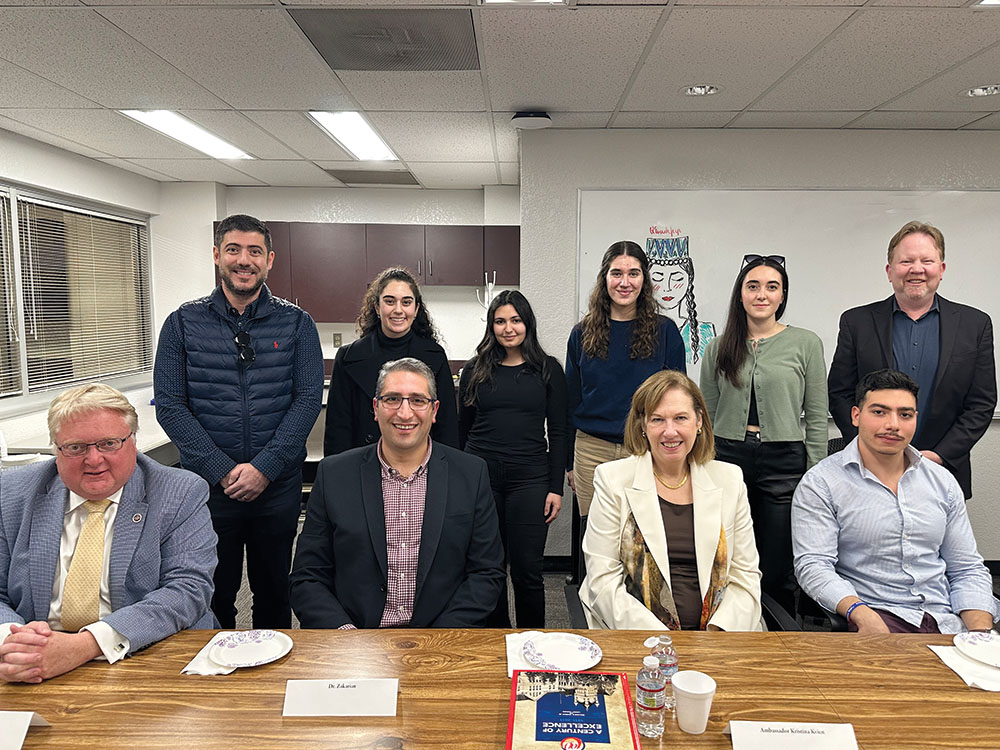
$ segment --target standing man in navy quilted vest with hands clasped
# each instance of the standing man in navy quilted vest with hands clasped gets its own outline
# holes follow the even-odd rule
[[[289,628],[288,571],[323,354],[312,318],[264,284],[274,251],[263,222],[224,219],[213,254],[222,283],[181,305],[160,331],[156,418],[181,465],[211,486],[219,536],[212,609],[222,627],[236,626],[245,549],[253,626]]]

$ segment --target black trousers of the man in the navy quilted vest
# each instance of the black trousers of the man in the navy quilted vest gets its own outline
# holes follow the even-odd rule
[[[253,626],[292,626],[288,573],[301,498],[301,472],[279,477],[252,503],[230,499],[218,485],[212,488],[208,506],[219,537],[212,611],[223,628],[236,627],[236,595],[243,583],[244,550],[247,581],[253,594]]]

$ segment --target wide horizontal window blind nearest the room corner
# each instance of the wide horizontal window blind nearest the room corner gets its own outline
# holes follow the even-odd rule
[[[152,367],[145,225],[18,198],[28,391]]]

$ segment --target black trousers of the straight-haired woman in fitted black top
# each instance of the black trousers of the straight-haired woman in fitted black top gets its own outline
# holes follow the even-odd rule
[[[542,561],[545,537],[545,496],[549,493],[549,465],[514,464],[485,458],[490,472],[490,487],[497,505],[500,539],[504,548],[504,567],[510,565],[514,588],[514,613],[519,628],[545,627],[545,583]],[[486,618],[488,628],[511,627],[507,586],[493,613]]]

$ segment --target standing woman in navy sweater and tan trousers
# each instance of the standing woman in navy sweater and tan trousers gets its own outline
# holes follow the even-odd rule
[[[569,335],[569,482],[586,518],[594,497],[594,469],[628,455],[625,416],[632,394],[653,373],[686,373],[684,340],[676,324],[657,314],[649,260],[623,240],[604,253],[590,309]],[[575,439],[574,439],[575,437]]]

